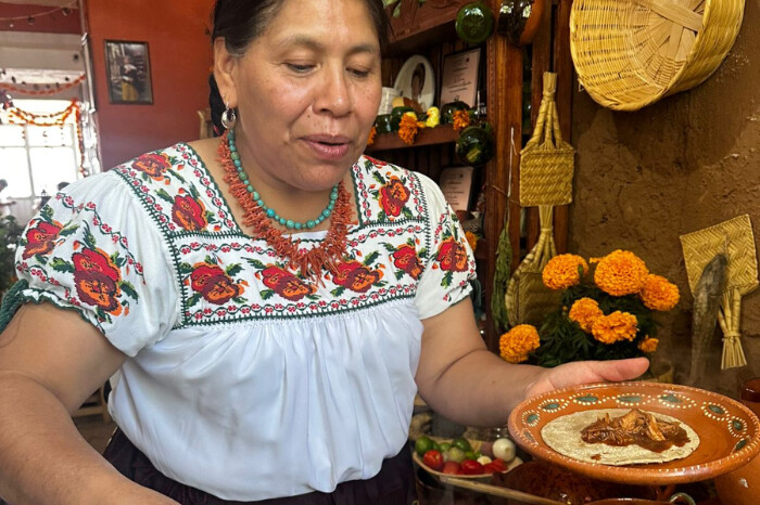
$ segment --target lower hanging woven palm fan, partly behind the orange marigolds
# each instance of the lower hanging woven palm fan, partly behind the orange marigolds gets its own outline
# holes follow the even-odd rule
[[[544,267],[557,256],[552,226],[554,207],[540,207],[539,218],[541,220],[539,242],[515,270],[507,286],[505,305],[511,326],[518,324],[541,326],[544,316],[557,310],[560,301],[561,293],[546,287],[542,279]]]

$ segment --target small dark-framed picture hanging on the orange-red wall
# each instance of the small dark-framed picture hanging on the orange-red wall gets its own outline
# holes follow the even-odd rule
[[[105,70],[111,103],[153,103],[148,42],[106,40]]]

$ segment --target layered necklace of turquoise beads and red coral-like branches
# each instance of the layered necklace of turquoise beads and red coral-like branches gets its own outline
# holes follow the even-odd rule
[[[218,155],[230,193],[243,208],[243,224],[253,229],[253,236],[265,239],[278,257],[288,260],[288,266],[299,269],[303,276],[319,280],[322,270],[337,273],[337,267],[346,250],[346,236],[351,224],[351,198],[343,181],[332,187],[330,203],[315,219],[306,222],[287,220],[267,207],[253,187],[240,160],[233,130],[224,134],[219,142]],[[330,219],[327,236],[321,244],[311,249],[302,249],[300,239],[294,241],[283,235],[282,231],[275,226],[277,223],[288,230],[312,230],[327,219]]]

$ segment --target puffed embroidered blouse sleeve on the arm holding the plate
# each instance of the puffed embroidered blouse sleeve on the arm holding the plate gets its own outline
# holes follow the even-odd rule
[[[420,319],[443,312],[472,290],[476,263],[456,213],[441,189],[419,174],[428,204],[428,250],[415,303]]]

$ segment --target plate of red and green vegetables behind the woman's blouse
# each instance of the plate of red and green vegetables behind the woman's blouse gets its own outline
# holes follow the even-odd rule
[[[484,442],[422,436],[415,442],[413,459],[434,476],[463,479],[490,479],[522,463],[515,456],[515,443],[507,438]]]

